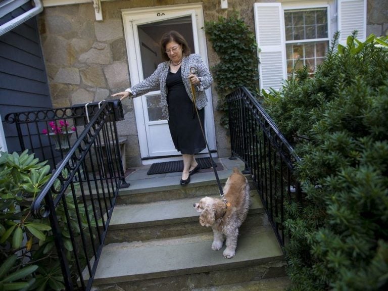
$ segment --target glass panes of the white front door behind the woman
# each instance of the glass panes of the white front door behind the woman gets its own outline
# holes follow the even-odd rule
[[[160,38],[170,30],[176,30],[186,39],[191,52],[194,51],[194,38],[192,34],[191,16],[184,16],[174,19],[168,19],[158,22],[152,22],[137,26],[141,66],[143,70],[143,78],[149,77],[160,63],[162,59],[160,52]],[[159,88],[155,88],[158,90]],[[160,107],[160,94],[147,96],[147,107],[149,121],[163,120],[162,108]]]

